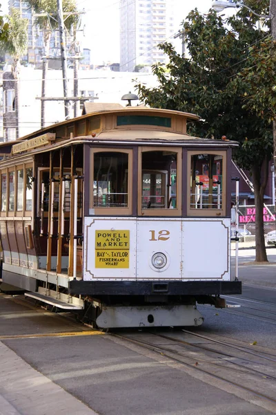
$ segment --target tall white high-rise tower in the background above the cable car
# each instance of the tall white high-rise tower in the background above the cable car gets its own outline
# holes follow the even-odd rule
[[[175,32],[173,0],[121,0],[120,27],[120,71],[165,63],[157,45]]]

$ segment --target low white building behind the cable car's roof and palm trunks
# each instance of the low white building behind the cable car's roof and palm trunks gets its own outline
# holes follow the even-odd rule
[[[68,95],[74,95],[74,71],[68,69]],[[132,91],[135,93],[133,78],[143,82],[148,87],[157,86],[157,80],[151,73],[121,73],[103,70],[79,71],[79,97],[88,101],[118,102],[122,95]],[[41,78],[42,71],[31,67],[21,67],[20,77],[14,82],[10,68],[3,73],[3,140],[15,140],[37,131],[41,126]],[[65,118],[63,97],[62,71],[49,71],[47,76],[46,96],[49,98],[45,105],[46,127]],[[19,98],[17,105],[16,99]],[[60,97],[60,98],[59,98]],[[59,100],[57,100],[59,98]],[[135,102],[136,104],[136,102]],[[83,100],[79,105],[77,116],[81,115]],[[70,102],[70,118],[74,117],[73,102]]]

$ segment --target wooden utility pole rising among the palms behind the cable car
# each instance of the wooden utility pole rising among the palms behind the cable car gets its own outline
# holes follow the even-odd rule
[[[63,95],[64,98],[68,97],[67,92],[67,59],[66,59],[66,40],[64,33],[64,21],[63,21],[63,8],[62,0],[57,0],[57,18],[59,22],[59,39],[60,39],[60,48],[61,48],[61,68],[62,68],[62,78],[63,78]],[[65,118],[69,116],[68,109],[69,101],[64,100],[64,111]]]

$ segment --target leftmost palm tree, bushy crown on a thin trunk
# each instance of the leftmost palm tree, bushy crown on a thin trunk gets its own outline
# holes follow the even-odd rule
[[[12,76],[14,78],[14,109],[16,114],[16,138],[19,138],[19,73],[20,58],[28,49],[28,19],[21,17],[21,12],[11,8],[10,15],[6,16],[8,32],[6,37],[0,38],[0,52],[12,57]]]

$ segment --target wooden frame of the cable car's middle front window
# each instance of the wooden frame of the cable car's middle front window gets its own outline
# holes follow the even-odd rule
[[[177,154],[177,208],[143,209],[142,200],[142,154],[148,151],[172,151]],[[139,147],[138,149],[138,216],[181,216],[182,149],[181,147]]]

